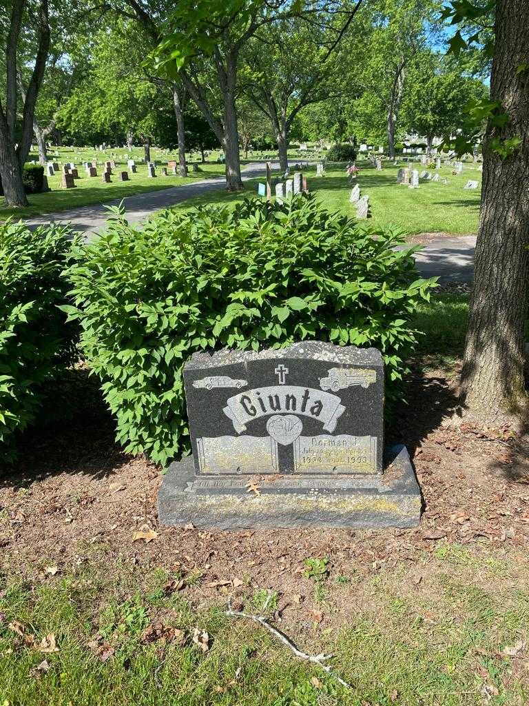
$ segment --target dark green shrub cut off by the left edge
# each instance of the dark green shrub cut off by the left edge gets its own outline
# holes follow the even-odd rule
[[[57,308],[66,302],[61,277],[71,264],[68,230],[31,232],[23,222],[0,225],[0,460],[16,457],[16,433],[35,420],[49,388],[75,358],[78,326]]]

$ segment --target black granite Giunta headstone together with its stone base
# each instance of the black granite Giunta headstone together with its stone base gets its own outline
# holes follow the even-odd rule
[[[183,378],[193,456],[164,477],[162,525],[418,525],[408,451],[384,448],[377,349],[305,341],[197,353]]]

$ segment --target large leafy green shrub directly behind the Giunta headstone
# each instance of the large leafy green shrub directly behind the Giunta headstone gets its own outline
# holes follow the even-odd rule
[[[415,344],[420,280],[401,232],[376,238],[313,197],[166,211],[136,229],[116,213],[69,270],[81,346],[118,441],[166,464],[189,450],[184,361],[222,347],[312,339],[375,345],[390,383]],[[388,390],[391,395],[394,389]]]

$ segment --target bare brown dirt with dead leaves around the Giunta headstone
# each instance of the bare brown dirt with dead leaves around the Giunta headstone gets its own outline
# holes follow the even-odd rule
[[[184,588],[193,575],[190,598],[195,592],[208,604],[243,577],[249,585],[303,594],[308,557],[328,557],[336,575],[367,577],[381,568],[411,568],[440,542],[480,554],[527,547],[529,470],[520,440],[509,429],[446,427],[456,399],[440,371],[410,376],[408,404],[388,433],[389,441],[408,446],[422,489],[424,513],[414,530],[159,527],[159,468],[116,446],[95,381],[74,388],[70,423],[42,426],[25,438],[17,467],[5,469],[0,481],[0,563],[16,575],[84,561],[109,570],[123,561],[163,566],[183,575]]]

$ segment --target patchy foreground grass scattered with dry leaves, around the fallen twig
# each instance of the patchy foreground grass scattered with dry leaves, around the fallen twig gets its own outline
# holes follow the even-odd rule
[[[178,569],[116,564],[107,571],[101,562],[57,568],[42,557],[39,576],[8,580],[0,598],[0,703],[526,704],[520,642],[529,619],[527,556],[439,544],[415,560],[410,568],[367,576],[332,570],[319,587],[305,580],[309,596],[320,593],[316,606],[324,618],[317,620],[303,597],[296,604],[288,595],[279,628],[300,649],[333,653],[334,671],[351,684],[346,689],[298,661],[260,626],[225,616],[226,596],[197,610],[190,588],[170,588],[182,580]],[[253,585],[242,566],[238,574],[243,607],[255,614],[267,590]],[[200,571],[196,576],[189,578],[191,588],[200,585]],[[233,594],[231,586],[227,593]],[[273,596],[269,617],[278,605],[279,595]],[[334,606],[341,606],[341,620],[332,616]],[[204,648],[193,642],[196,630]]]

